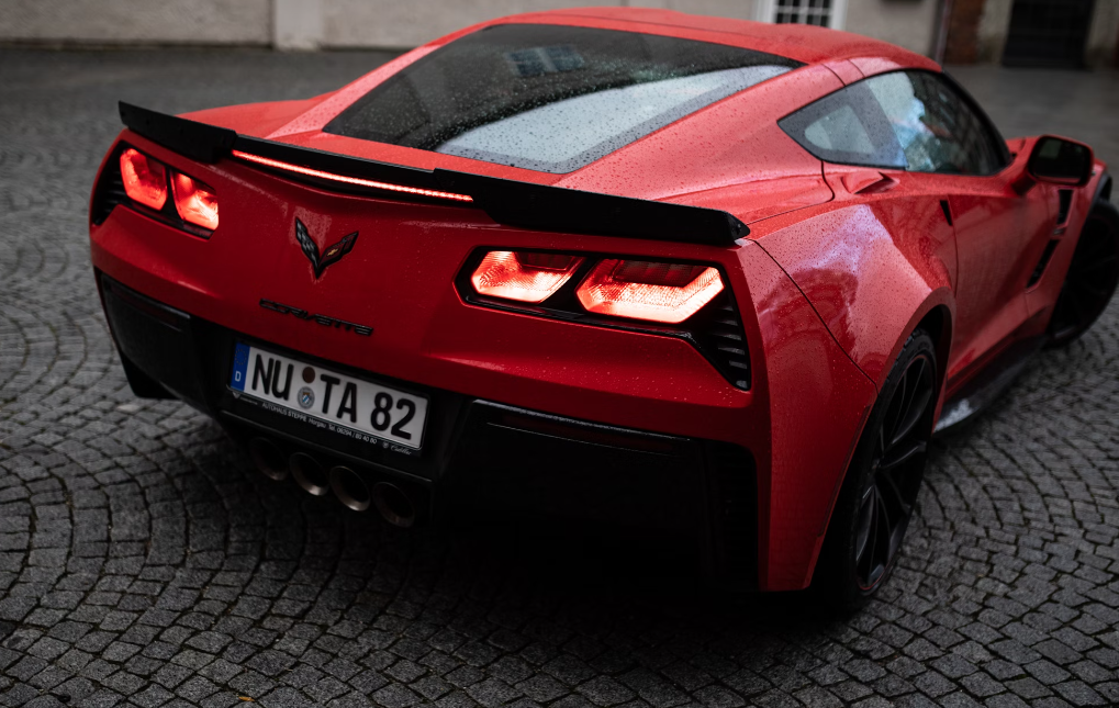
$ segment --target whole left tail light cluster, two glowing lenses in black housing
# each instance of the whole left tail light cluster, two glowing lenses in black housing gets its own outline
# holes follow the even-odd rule
[[[217,228],[217,193],[211,187],[125,143],[101,171],[90,220],[104,223],[119,205],[201,238]]]

